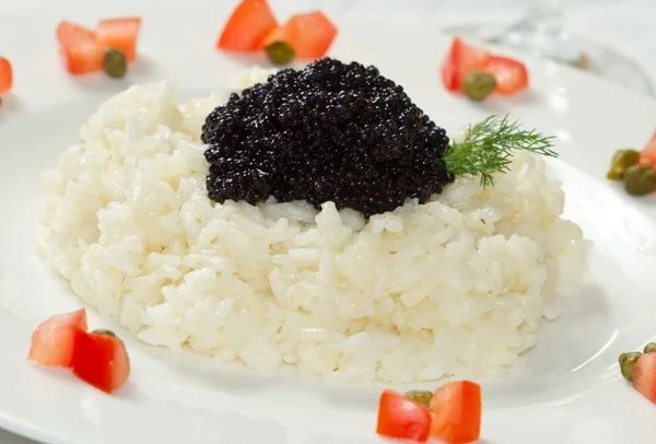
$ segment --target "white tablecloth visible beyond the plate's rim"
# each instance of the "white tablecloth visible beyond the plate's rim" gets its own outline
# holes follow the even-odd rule
[[[134,0],[137,1],[137,0]],[[282,0],[274,0],[280,2]],[[519,17],[532,0],[307,0],[306,8],[319,5],[335,13],[361,15],[394,24],[402,20],[417,26],[445,27],[484,20]],[[12,2],[13,3],[13,2]],[[2,9],[22,9],[50,3],[21,0]],[[400,4],[402,3],[402,9]],[[595,39],[636,60],[656,85],[655,0],[570,0],[565,22],[569,30]],[[278,4],[277,4],[278,7]],[[35,444],[34,441],[0,430],[0,444]],[[91,443],[90,443],[91,444]]]

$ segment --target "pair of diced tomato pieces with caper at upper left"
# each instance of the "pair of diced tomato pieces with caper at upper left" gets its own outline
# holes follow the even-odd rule
[[[125,70],[121,73],[117,51],[128,61],[134,60],[140,26],[138,17],[109,19],[102,20],[94,32],[62,21],[57,27],[57,40],[67,71],[77,75],[105,69],[112,77],[122,77]]]

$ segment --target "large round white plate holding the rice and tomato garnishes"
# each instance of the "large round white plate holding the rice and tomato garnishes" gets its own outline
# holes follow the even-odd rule
[[[0,14],[0,49],[15,68],[14,92],[3,97],[0,110],[0,427],[67,444],[383,442],[374,433],[377,385],[327,387],[292,372],[261,375],[194,354],[176,358],[126,331],[133,371],[117,396],[25,362],[33,328],[80,306],[33,253],[39,173],[77,140],[80,125],[101,101],[128,84],[168,79],[183,96],[204,95],[225,90],[253,61],[213,49],[232,4],[90,3],[68,19],[89,25],[127,13],[144,19],[140,61],[122,81],[63,72],[54,38],[60,7]],[[300,2],[276,4],[282,16],[302,8]],[[436,32],[389,30],[341,16],[339,3],[325,9],[340,27],[331,55],[378,66],[438,125],[455,129],[512,112],[559,137],[561,160],[550,162],[550,171],[564,182],[566,215],[595,242],[583,304],[540,329],[538,344],[526,354],[526,371],[482,382],[482,442],[652,441],[654,406],[621,379],[617,357],[656,335],[656,201],[625,196],[604,174],[613,150],[644,144],[656,104],[534,60],[530,93],[473,105],[443,90],[437,72],[448,40]],[[94,326],[106,324],[93,311],[90,316]]]

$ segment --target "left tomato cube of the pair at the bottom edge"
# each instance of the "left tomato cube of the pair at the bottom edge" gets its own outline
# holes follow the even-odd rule
[[[431,430],[431,411],[393,390],[380,395],[376,433],[395,440],[424,443]]]

